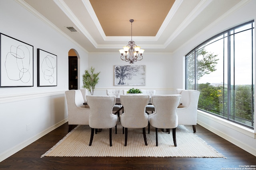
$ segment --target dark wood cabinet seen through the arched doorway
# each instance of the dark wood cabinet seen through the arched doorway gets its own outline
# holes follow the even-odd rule
[[[78,89],[78,73],[77,73],[77,57],[69,56],[68,57],[68,89],[77,90]]]

